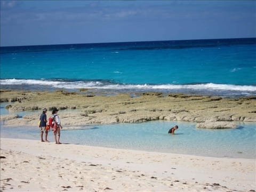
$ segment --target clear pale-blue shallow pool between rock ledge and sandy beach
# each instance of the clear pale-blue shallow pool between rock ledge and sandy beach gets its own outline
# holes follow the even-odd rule
[[[175,135],[167,134],[179,125]],[[79,145],[158,151],[213,157],[256,158],[256,125],[239,123],[237,129],[196,129],[194,123],[155,121],[140,124],[87,125],[62,130],[61,141]],[[88,129],[89,128],[89,129]],[[49,139],[53,141],[52,132]],[[1,137],[39,140],[37,127],[1,127]]]

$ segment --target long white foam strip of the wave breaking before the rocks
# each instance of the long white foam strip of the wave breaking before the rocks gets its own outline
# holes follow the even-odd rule
[[[223,90],[223,91],[242,91],[254,92],[256,86],[253,85],[229,85],[229,84],[195,84],[195,85],[175,85],[175,84],[162,84],[162,85],[148,85],[148,84],[110,84],[99,81],[77,81],[77,82],[64,82],[64,81],[48,81],[44,79],[0,79],[1,85],[49,85],[59,89],[141,89],[141,90]]]

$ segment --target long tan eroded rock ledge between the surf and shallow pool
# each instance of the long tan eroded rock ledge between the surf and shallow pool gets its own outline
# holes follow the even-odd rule
[[[37,126],[41,110],[57,107],[66,127],[85,124],[142,123],[154,120],[188,121],[209,129],[234,128],[234,122],[256,122],[256,97],[225,99],[201,95],[147,92],[95,96],[86,92],[23,92],[1,90],[1,102],[14,114],[37,110],[18,118],[1,115],[6,125]]]

